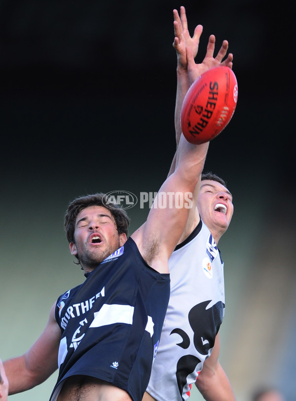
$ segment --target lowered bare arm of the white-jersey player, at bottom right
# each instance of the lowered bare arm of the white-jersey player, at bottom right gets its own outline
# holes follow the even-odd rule
[[[219,353],[218,334],[212,354],[206,359],[195,385],[206,401],[235,401],[229,380],[218,361]]]

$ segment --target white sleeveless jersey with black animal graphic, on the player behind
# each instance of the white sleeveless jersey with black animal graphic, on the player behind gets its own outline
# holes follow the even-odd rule
[[[224,315],[223,262],[200,221],[169,259],[171,293],[147,392],[157,401],[189,398]]]

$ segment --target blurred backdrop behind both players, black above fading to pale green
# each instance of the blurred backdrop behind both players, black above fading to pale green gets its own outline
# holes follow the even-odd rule
[[[0,1],[1,305],[14,298],[2,311],[0,355],[26,351],[50,305],[81,280],[63,234],[68,202],[97,191],[157,191],[166,178],[175,152],[173,9],[181,5],[191,34],[204,26],[196,61],[210,34],[217,51],[227,39],[239,88],[205,165],[226,180],[235,206],[219,243],[223,366],[239,401],[275,378],[294,400],[296,366],[283,348],[295,332],[287,305],[296,299],[295,21],[285,2]],[[130,210],[131,231],[147,212]]]

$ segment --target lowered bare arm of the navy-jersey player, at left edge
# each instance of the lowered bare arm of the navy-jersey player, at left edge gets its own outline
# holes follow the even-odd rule
[[[58,368],[61,330],[52,306],[47,325],[24,355],[3,363],[9,381],[9,395],[29,390],[46,380]]]

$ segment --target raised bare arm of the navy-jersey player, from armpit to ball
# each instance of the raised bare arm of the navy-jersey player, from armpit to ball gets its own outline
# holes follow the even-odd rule
[[[193,82],[196,75],[189,48],[186,48],[186,57],[188,77]],[[148,264],[161,273],[168,272],[168,259],[185,229],[192,209],[192,194],[203,170],[208,146],[209,143],[190,144],[181,135],[175,171],[161,186],[146,223],[131,236]]]

